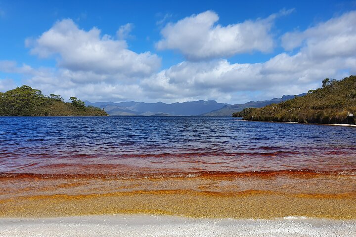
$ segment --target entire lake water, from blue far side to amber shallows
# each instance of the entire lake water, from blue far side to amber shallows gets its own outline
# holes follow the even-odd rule
[[[354,218],[355,208],[348,205],[356,200],[355,176],[353,127],[206,117],[0,118],[4,216],[147,212]],[[127,195],[126,202],[120,199]],[[324,207],[306,211],[304,205],[315,206],[319,196],[316,203]],[[101,204],[83,207],[79,197],[88,203],[101,198]],[[217,197],[226,202],[225,210],[214,204]],[[266,203],[294,199],[279,213],[277,204],[260,210],[257,197]],[[167,206],[156,206],[159,198]],[[236,198],[242,206],[226,209]],[[34,204],[39,199],[46,206]],[[193,200],[177,204],[186,199]],[[55,211],[58,203],[62,209]]]

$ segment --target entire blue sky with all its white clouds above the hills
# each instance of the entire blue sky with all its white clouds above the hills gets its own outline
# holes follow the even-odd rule
[[[237,104],[356,75],[356,0],[0,0],[0,91]]]

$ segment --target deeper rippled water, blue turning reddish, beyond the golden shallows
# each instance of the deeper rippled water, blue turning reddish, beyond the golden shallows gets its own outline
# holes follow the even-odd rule
[[[356,128],[208,117],[0,117],[0,173],[356,170]]]

